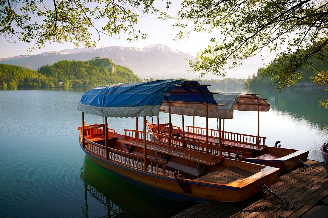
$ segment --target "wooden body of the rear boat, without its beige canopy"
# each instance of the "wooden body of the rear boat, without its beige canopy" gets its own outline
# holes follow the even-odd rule
[[[152,132],[153,124],[147,124],[148,131]],[[159,125],[163,125],[164,128],[167,126],[167,124]],[[157,131],[157,125],[154,126],[155,131]],[[206,141],[206,136],[204,134],[205,128],[187,126],[187,129],[188,130],[184,134],[185,138],[196,141]],[[164,134],[167,132],[167,130],[164,130]],[[217,137],[219,131],[209,129],[209,133],[209,143],[212,145],[219,144],[219,138]],[[173,125],[172,135],[183,138],[181,128]],[[298,160],[304,162],[307,160],[309,151],[281,148],[280,145],[278,145],[280,141],[276,143],[275,147],[266,146],[264,145],[265,137],[260,136],[260,138],[263,139],[263,144],[261,143],[258,145],[256,144],[257,136],[222,131],[222,146],[226,151],[223,155],[228,158],[243,158],[243,160],[247,162],[276,167],[280,169],[280,172],[297,167],[301,164]],[[238,154],[237,157],[236,154]]]

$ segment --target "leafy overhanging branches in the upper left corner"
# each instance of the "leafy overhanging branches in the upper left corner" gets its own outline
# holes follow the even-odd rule
[[[125,32],[133,41],[146,37],[135,29],[139,18],[156,12],[154,0],[0,0],[0,34],[34,43],[30,51],[47,41],[93,46],[92,29],[99,39],[101,33],[114,37]],[[99,20],[106,25],[98,27]]]

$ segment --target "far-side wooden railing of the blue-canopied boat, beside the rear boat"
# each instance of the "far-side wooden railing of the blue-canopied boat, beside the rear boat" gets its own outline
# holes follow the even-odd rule
[[[125,137],[131,137],[137,140],[143,140],[144,135],[142,131],[135,130],[127,130],[125,129]],[[168,136],[164,134],[154,134],[147,133],[146,135],[147,142],[152,142],[156,140],[156,142],[161,143],[161,145],[168,147],[175,147],[183,150],[189,150],[194,152],[199,152],[203,154],[212,154],[215,156],[222,157],[222,152],[224,155],[231,155],[231,146],[219,146],[216,144],[206,144],[205,142],[191,140],[191,139],[183,139],[175,136]],[[169,141],[171,144],[169,145]]]

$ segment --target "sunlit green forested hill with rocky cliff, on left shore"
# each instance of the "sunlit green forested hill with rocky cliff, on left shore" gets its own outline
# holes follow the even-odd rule
[[[37,71],[0,64],[0,90],[20,88],[96,87],[123,82],[141,82],[132,70],[115,65],[109,59],[59,61],[41,66]]]

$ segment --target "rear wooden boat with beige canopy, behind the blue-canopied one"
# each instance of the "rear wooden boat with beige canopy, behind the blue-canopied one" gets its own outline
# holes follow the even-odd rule
[[[222,103],[230,105],[230,113],[233,112],[233,110],[257,110],[259,116],[259,111],[268,111],[270,108],[270,104],[265,101],[266,99],[261,99],[255,94],[220,93],[215,94],[214,96],[216,99],[224,99]],[[218,108],[218,110],[222,109]],[[224,118],[233,118],[233,114],[229,115],[225,113],[223,116]],[[148,122],[147,129],[149,132],[171,134],[171,136],[180,138],[203,142],[208,141],[210,144],[220,144],[228,151],[227,153],[224,153],[224,156],[228,158],[243,158],[247,162],[279,168],[281,172],[300,165],[301,162],[298,160],[305,162],[309,154],[309,151],[305,150],[281,148],[280,144],[278,145],[280,141],[277,141],[274,147],[266,146],[266,137],[259,136],[259,117],[257,136],[224,131],[224,119],[222,131],[221,128],[215,130],[195,127],[195,117],[193,123],[193,126],[187,126],[187,131],[184,131],[184,124],[182,130],[180,127],[173,126],[172,123],[153,124]],[[221,119],[219,120],[219,123],[221,126]],[[171,129],[171,131],[169,131],[169,129]],[[206,135],[206,133],[208,134]]]

